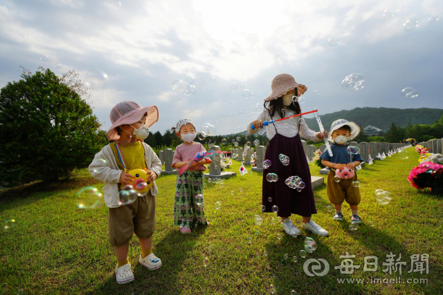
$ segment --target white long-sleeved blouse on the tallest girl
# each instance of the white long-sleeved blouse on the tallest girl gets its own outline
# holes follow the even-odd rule
[[[286,106],[284,107],[284,114],[286,116],[289,116],[289,113],[293,111],[289,110]],[[264,109],[260,115],[258,115],[257,120],[260,120],[262,122],[264,121],[272,121],[272,120],[278,120],[280,119],[280,115],[277,111],[275,111],[273,117],[269,115],[268,110]],[[266,128],[266,136],[269,138],[269,140],[272,139],[272,137],[275,136],[275,129],[277,129],[277,132],[283,136],[286,137],[294,137],[298,134],[298,124],[299,124],[300,117],[293,117],[291,119],[282,120],[279,122],[274,122],[269,124],[267,127],[264,126],[263,128]],[[247,131],[248,133],[254,134],[259,132],[261,129],[251,129],[252,122],[249,122]],[[275,124],[275,128],[274,128]],[[317,132],[314,130],[309,129],[307,126],[305,120],[303,120],[302,124],[300,124],[300,136],[307,140],[311,140],[313,142],[320,142],[321,140],[317,137]]]

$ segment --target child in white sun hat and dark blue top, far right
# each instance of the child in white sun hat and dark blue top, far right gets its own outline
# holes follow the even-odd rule
[[[341,204],[344,201],[351,207],[351,222],[360,223],[359,207],[361,201],[360,185],[355,167],[363,162],[357,149],[350,146],[350,141],[360,133],[359,125],[339,119],[332,123],[329,131],[332,157],[323,152],[320,155],[322,164],[327,166],[327,197],[334,204],[334,220],[341,221]]]

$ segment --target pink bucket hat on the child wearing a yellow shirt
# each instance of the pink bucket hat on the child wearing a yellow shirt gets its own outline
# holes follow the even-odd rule
[[[111,110],[111,115],[109,115],[112,126],[106,133],[108,140],[118,140],[120,138],[116,130],[117,126],[134,124],[140,120],[145,113],[147,114],[145,126],[148,128],[159,121],[159,110],[156,106],[146,106],[143,108],[140,104],[129,100],[116,104]]]

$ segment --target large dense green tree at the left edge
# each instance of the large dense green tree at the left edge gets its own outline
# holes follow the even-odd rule
[[[73,70],[39,68],[0,91],[0,177],[7,185],[69,178],[107,143]]]

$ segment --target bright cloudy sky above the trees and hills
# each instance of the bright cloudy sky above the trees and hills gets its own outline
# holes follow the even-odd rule
[[[159,108],[151,130],[162,133],[183,117],[244,130],[279,73],[307,86],[303,111],[443,108],[440,16],[437,0],[0,0],[0,87],[20,79],[19,66],[73,69],[103,129],[116,103],[134,100]],[[352,73],[363,89],[341,87]],[[402,96],[406,87],[418,97]]]

